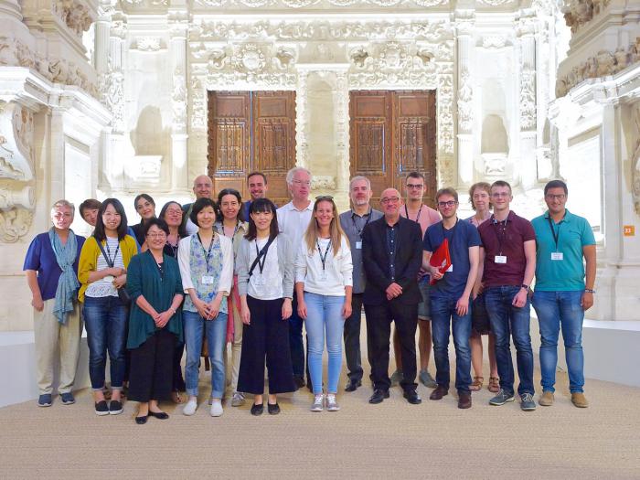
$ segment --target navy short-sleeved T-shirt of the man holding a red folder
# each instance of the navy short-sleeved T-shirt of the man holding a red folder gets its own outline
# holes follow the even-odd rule
[[[433,224],[424,234],[422,248],[425,251],[437,251],[444,239],[449,241],[449,254],[452,272],[444,276],[431,288],[433,297],[459,298],[464,293],[471,263],[469,248],[480,246],[480,235],[475,227],[464,220],[458,220],[453,229],[444,229],[443,222]]]

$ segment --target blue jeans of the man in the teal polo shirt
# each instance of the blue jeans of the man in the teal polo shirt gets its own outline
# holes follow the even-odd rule
[[[564,352],[569,370],[571,393],[584,391],[584,355],[582,354],[582,291],[539,292],[531,303],[538,314],[540,325],[540,370],[542,390],[555,391],[556,366],[558,365],[558,336],[560,325]]]

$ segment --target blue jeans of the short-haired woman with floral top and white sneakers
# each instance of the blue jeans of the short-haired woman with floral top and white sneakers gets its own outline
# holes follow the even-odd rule
[[[185,345],[187,346],[187,363],[185,364],[187,395],[197,397],[202,337],[206,330],[208,355],[211,361],[211,397],[221,399],[225,389],[222,352],[227,341],[227,314],[220,312],[213,320],[205,320],[197,312],[183,310],[182,317],[185,322]]]

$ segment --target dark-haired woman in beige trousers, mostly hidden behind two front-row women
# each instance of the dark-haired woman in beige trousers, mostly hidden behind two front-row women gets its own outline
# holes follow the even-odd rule
[[[214,229],[220,234],[228,237],[233,242],[233,259],[235,264],[238,249],[242,238],[247,234],[248,225],[243,220],[241,211],[242,198],[240,192],[233,188],[225,188],[220,190],[218,194],[218,208],[222,219],[219,219]],[[240,319],[240,296],[238,295],[238,275],[234,272],[233,287],[227,299],[227,308],[229,311],[229,322],[227,324],[227,343],[231,343],[231,365],[230,368],[230,384],[233,389],[233,397],[231,398],[232,407],[240,407],[244,405],[244,395],[238,391],[238,371],[240,369],[240,352],[242,350],[242,320]],[[227,362],[227,343],[222,353],[225,363]],[[227,374],[229,378],[229,373]]]

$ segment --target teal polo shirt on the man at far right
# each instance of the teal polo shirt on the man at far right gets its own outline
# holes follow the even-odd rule
[[[564,219],[549,226],[549,210],[531,220],[536,232],[536,290],[542,292],[575,292],[584,290],[584,262],[582,247],[595,245],[593,230],[587,219],[566,210]],[[562,260],[551,260],[551,253],[562,253]]]

